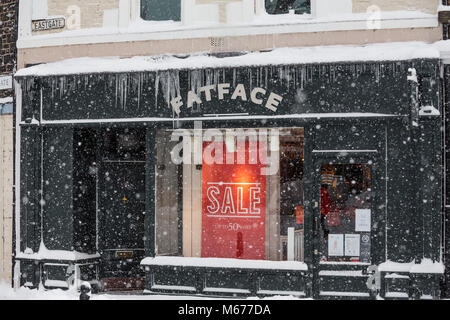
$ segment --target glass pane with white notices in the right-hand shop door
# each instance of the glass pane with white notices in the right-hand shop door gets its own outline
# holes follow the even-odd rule
[[[322,261],[370,263],[371,192],[369,165],[321,167]]]

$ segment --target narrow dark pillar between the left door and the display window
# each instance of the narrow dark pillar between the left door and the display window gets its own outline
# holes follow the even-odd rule
[[[156,128],[147,127],[147,153],[145,159],[145,256],[155,256],[155,164],[156,164]]]

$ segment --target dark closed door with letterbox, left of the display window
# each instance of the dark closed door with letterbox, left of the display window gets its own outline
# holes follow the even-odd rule
[[[100,172],[100,253],[105,290],[143,289],[145,163],[104,161]]]

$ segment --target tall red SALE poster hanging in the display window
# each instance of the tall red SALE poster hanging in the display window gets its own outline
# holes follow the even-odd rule
[[[266,143],[236,149],[203,144],[202,257],[265,259]]]

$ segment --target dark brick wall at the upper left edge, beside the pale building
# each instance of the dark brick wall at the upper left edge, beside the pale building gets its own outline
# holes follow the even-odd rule
[[[0,2],[0,76],[11,75],[16,65],[17,0]],[[11,91],[0,91],[0,98],[12,96]]]

